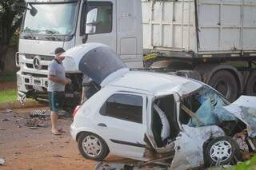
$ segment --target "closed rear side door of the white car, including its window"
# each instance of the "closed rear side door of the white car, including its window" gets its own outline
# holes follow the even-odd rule
[[[119,156],[142,158],[146,143],[146,97],[114,93],[98,111],[97,131],[110,151]]]

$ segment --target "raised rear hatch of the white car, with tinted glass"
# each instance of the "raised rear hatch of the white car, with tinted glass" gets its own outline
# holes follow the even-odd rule
[[[101,86],[129,72],[118,55],[101,43],[78,45],[68,49],[62,56],[72,57],[77,69]]]

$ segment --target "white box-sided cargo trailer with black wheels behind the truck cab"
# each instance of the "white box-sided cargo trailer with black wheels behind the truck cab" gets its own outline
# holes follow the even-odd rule
[[[230,101],[256,94],[255,1],[144,0],[142,26],[153,67],[194,71]]]

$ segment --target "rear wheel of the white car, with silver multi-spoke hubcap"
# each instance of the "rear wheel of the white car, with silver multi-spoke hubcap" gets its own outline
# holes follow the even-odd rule
[[[110,152],[106,142],[90,132],[78,136],[78,149],[82,156],[90,160],[103,160]]]

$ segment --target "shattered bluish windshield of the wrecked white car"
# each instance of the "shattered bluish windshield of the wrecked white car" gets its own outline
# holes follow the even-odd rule
[[[182,98],[180,121],[191,127],[218,125],[220,121],[236,121],[223,106],[229,105],[221,94],[207,85]]]

